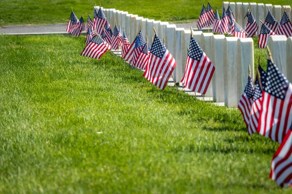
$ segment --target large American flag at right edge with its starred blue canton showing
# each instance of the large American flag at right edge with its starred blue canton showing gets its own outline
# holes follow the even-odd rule
[[[257,131],[281,143],[292,124],[292,84],[268,60]]]

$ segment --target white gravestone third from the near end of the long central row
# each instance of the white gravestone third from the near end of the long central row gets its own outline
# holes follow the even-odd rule
[[[224,102],[224,63],[223,63],[223,46],[225,35],[213,35],[211,37],[212,54],[209,59],[215,66],[212,78],[213,99],[215,102]]]

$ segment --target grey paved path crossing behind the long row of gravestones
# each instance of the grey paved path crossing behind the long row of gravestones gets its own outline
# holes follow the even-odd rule
[[[197,29],[196,23],[189,24],[176,24],[177,28],[185,28],[189,29],[190,26],[194,30]],[[50,33],[64,33],[67,34],[66,31],[67,24],[54,24],[54,25],[45,25],[45,26],[1,26],[0,34],[50,34]],[[204,28],[202,31],[208,31],[208,28]],[[82,34],[86,34],[82,32]]]

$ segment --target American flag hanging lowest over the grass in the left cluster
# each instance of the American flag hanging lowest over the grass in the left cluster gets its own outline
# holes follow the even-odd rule
[[[90,43],[83,49],[81,56],[100,59],[100,57],[108,50],[108,43],[104,42],[98,35],[95,35]]]

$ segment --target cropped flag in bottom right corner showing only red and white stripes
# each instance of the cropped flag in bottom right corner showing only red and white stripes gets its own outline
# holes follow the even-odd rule
[[[292,186],[292,129],[288,129],[283,142],[271,162],[272,178],[281,187]]]

